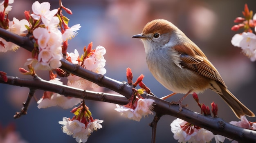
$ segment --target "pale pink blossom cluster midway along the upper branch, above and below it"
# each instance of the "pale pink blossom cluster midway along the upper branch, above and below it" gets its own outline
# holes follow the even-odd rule
[[[106,49],[103,46],[97,46],[92,50],[91,42],[87,49],[84,48],[84,54],[81,57],[75,49],[74,53],[67,53],[67,60],[73,64],[79,64],[79,66],[94,73],[104,75],[106,73],[106,69],[104,68],[106,64],[106,60],[104,59],[105,54]],[[99,87],[97,84],[73,74],[70,74],[67,79],[67,85],[75,88],[90,90]]]

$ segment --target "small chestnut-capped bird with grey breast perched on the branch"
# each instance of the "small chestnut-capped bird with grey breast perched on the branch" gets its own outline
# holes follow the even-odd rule
[[[185,94],[177,102],[180,111],[182,101],[190,93],[202,93],[211,89],[231,108],[236,117],[255,114],[241,103],[225,85],[218,70],[200,48],[180,29],[168,20],[148,22],[142,33],[132,36],[141,39],[146,53],[146,63],[153,77],[173,93]]]

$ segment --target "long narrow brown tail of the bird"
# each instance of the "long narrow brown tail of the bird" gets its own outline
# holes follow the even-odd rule
[[[226,87],[218,84],[222,90],[222,94],[218,93],[220,97],[229,105],[229,107],[236,114],[236,117],[240,119],[240,116],[247,115],[249,117],[255,117],[255,114],[249,110],[242,102],[240,102]]]

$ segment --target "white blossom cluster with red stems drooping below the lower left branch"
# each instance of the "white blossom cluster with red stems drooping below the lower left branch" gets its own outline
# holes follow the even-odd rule
[[[74,108],[71,112],[75,114],[72,119],[63,117],[63,121],[58,123],[63,125],[63,133],[76,138],[76,142],[85,143],[93,131],[102,128],[100,123],[103,123],[103,120],[93,119],[91,112],[84,104]]]

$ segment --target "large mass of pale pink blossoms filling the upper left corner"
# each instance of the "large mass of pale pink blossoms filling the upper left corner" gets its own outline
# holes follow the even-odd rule
[[[36,45],[32,52],[32,58],[27,59],[25,65],[35,64],[35,69],[52,70],[61,66],[60,60],[63,57],[63,42],[77,35],[77,30],[80,29],[80,24],[72,27],[67,26],[63,20],[63,15],[58,15],[58,9],[50,10],[49,2],[39,3],[38,1],[32,4],[32,13],[25,11],[24,20],[13,18],[9,21],[5,15],[11,11],[9,4],[13,0],[5,0],[0,4],[0,28],[7,31],[25,36],[25,31],[32,34]],[[64,8],[64,7],[63,7]],[[65,18],[67,19],[67,18]],[[60,28],[60,29],[59,29]],[[16,44],[6,42],[0,38],[0,52],[15,51],[18,49]]]

